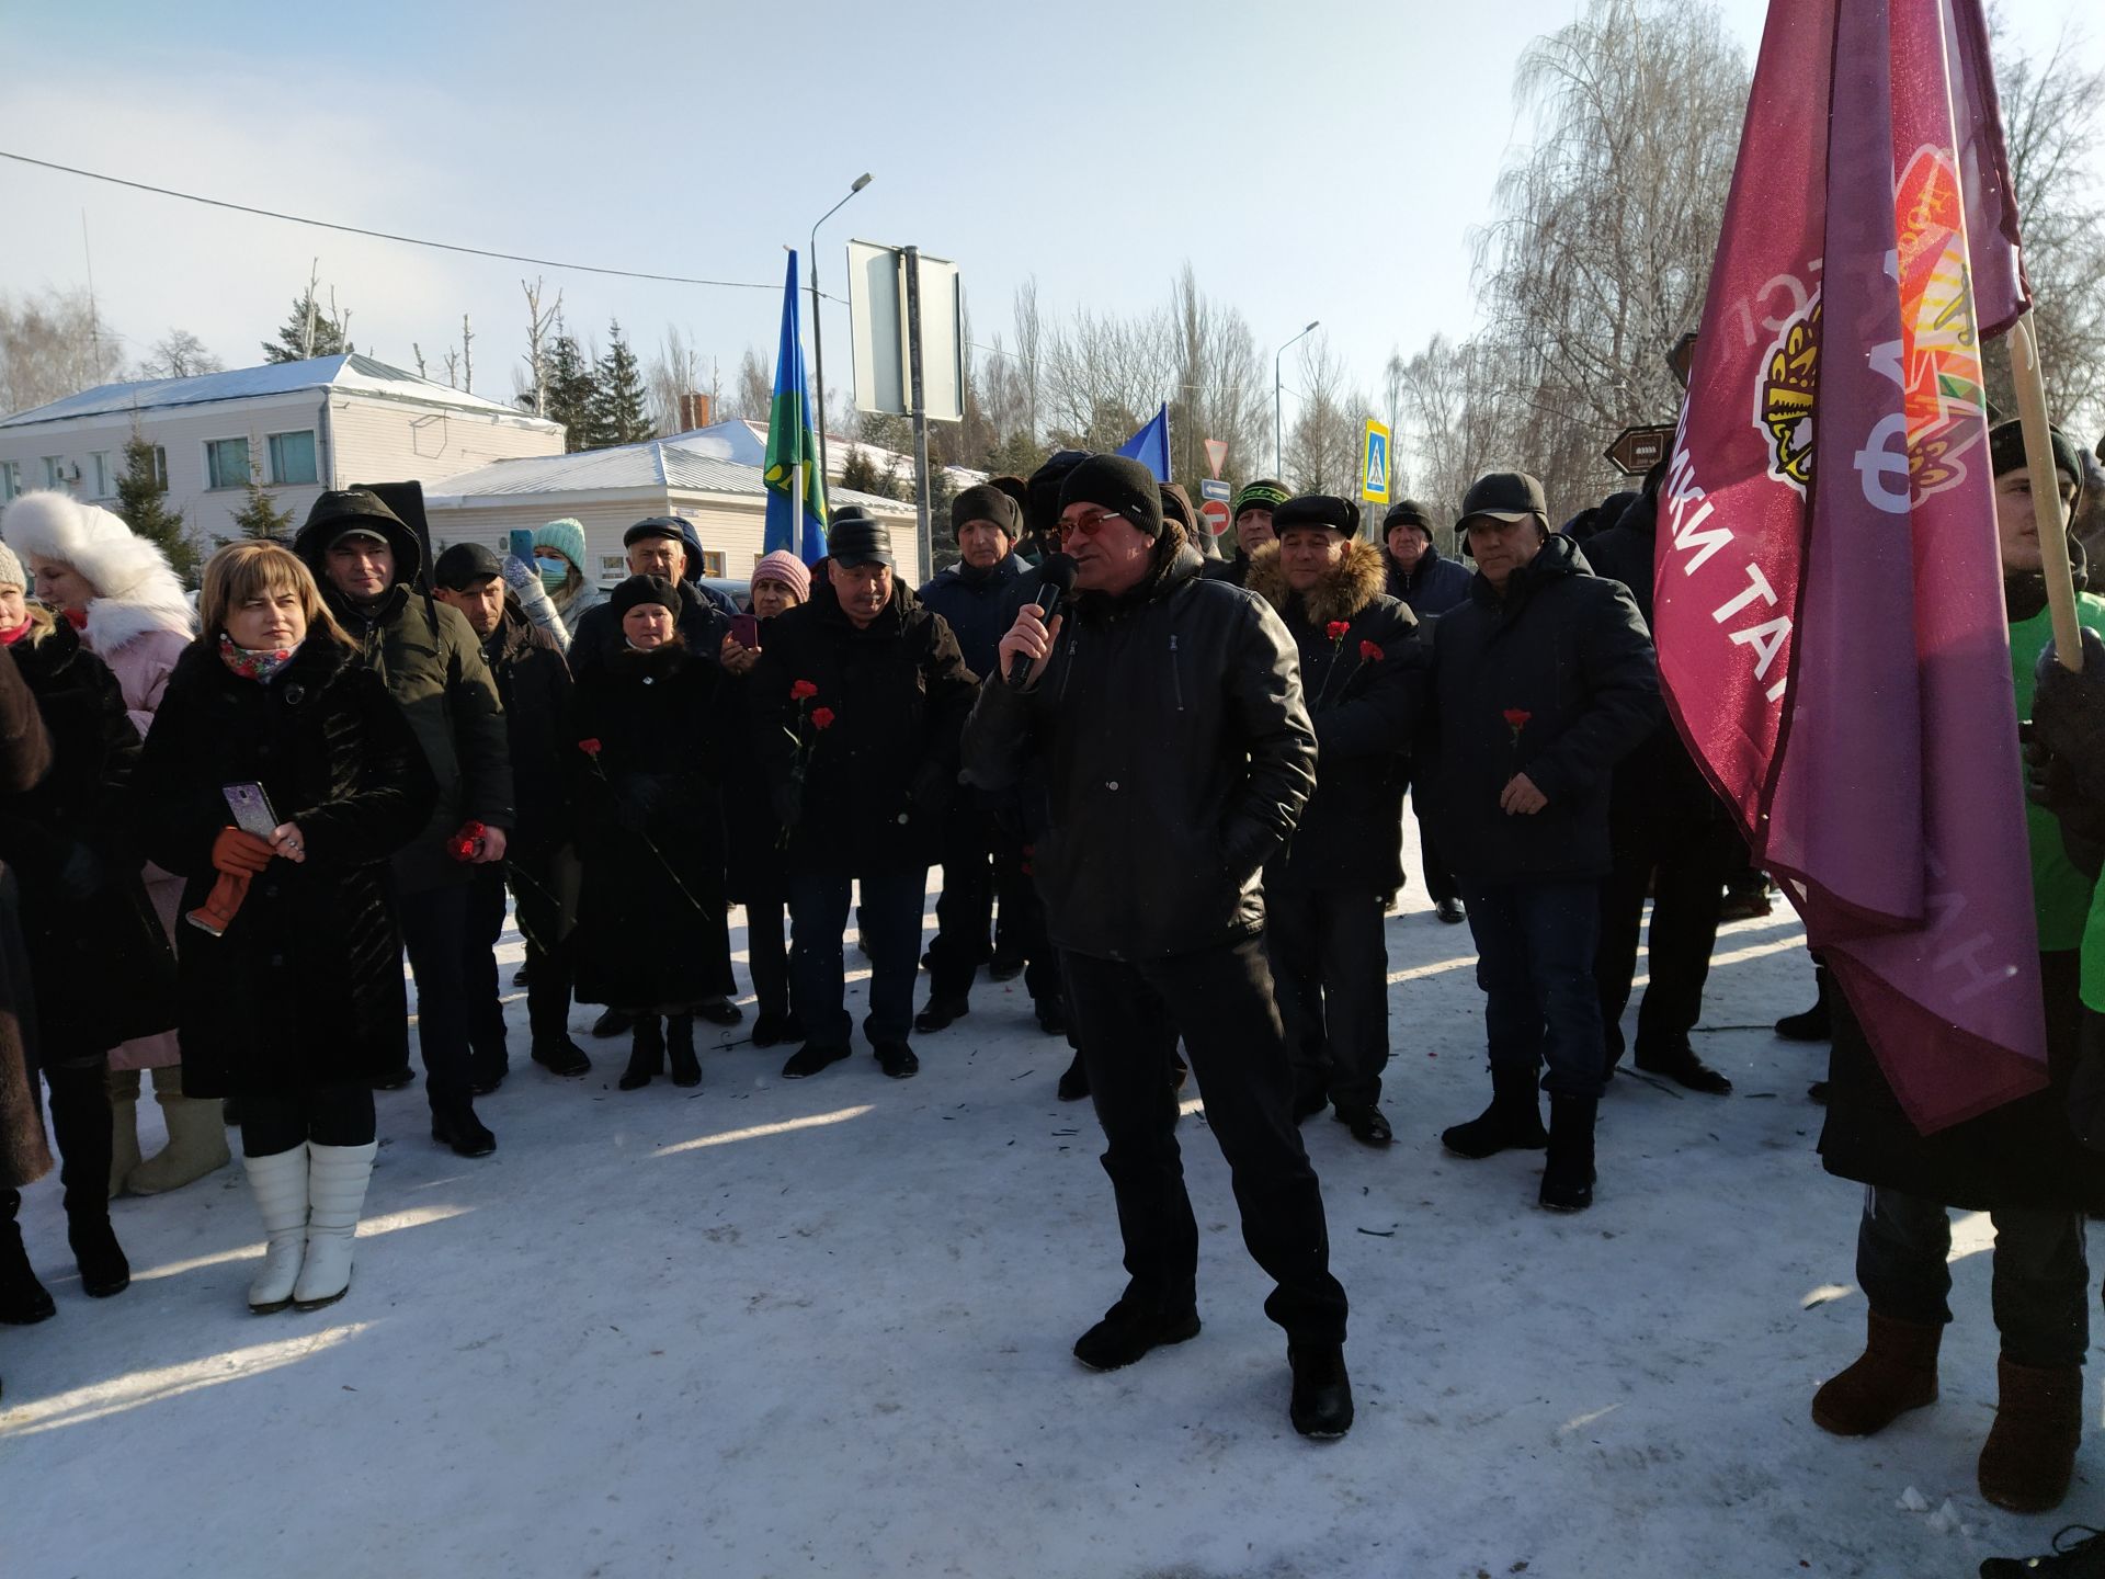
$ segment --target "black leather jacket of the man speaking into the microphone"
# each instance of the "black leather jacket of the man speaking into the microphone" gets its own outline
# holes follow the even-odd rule
[[[1084,594],[1029,691],[987,684],[964,731],[973,783],[1036,752],[1050,825],[1031,870],[1052,941],[1154,960],[1265,924],[1265,861],[1316,787],[1292,636],[1263,598],[1164,541],[1122,598]]]

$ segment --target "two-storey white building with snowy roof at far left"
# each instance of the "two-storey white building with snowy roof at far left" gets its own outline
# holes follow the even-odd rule
[[[493,461],[562,455],[558,423],[370,356],[318,356],[105,383],[0,417],[0,503],[65,488],[114,505],[135,429],[206,549],[236,535],[250,476],[299,522],[324,488],[417,478],[429,493]]]

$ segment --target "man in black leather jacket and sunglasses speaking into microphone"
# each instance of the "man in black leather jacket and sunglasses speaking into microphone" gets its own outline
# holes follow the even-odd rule
[[[1139,461],[1092,455],[1061,486],[1074,600],[1025,604],[964,728],[964,771],[1002,790],[1036,756],[1050,800],[1031,870],[1103,1124],[1128,1284],[1074,1345],[1097,1371],[1198,1335],[1198,1225],[1162,1078],[1185,1042],[1242,1238],[1278,1284],[1290,1417],[1351,1427],[1345,1291],[1263,952],[1265,859],[1316,785],[1316,731],[1280,617],[1200,577]],[[1021,686],[1010,684],[1023,667]]]

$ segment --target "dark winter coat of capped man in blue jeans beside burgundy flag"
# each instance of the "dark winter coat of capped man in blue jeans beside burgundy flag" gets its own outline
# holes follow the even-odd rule
[[[1465,886],[1606,876],[1615,764],[1661,720],[1638,604],[1551,537],[1503,598],[1478,573],[1469,598],[1434,621],[1429,646],[1417,781],[1455,874]],[[1539,813],[1499,808],[1516,773],[1547,796]]]

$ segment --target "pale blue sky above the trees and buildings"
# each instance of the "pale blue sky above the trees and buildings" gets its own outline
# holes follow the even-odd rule
[[[724,364],[770,352],[783,242],[960,263],[975,337],[1038,278],[1048,314],[1137,312],[1189,259],[1263,345],[1320,318],[1370,389],[1474,316],[1469,232],[1516,139],[1520,51],[1577,0],[1499,4],[787,6],[8,0],[0,147],[267,208],[554,259],[770,284],[543,269],[579,333],[671,324]],[[1726,0],[1751,59],[1764,6]],[[783,19],[800,32],[783,32]],[[2014,0],[2033,46],[2071,8]],[[2105,44],[2090,38],[2090,63]],[[86,63],[93,61],[93,69]],[[51,72],[38,72],[51,63]],[[352,339],[436,366],[476,324],[476,389],[524,349],[516,263],[229,215],[0,162],[0,291],[74,288],[135,352],[171,326],[229,364],[320,259]],[[86,221],[86,246],[82,238]],[[827,305],[834,385],[846,312]],[[806,347],[808,349],[808,347]]]

